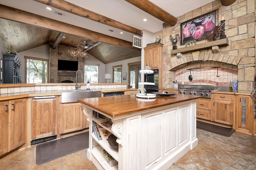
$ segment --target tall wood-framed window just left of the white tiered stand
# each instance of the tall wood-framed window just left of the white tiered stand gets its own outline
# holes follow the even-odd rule
[[[130,88],[138,89],[138,83],[141,82],[141,61],[128,63]]]

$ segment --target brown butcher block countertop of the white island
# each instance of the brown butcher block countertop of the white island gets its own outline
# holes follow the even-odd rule
[[[96,109],[111,117],[118,117],[144,111],[148,109],[154,109],[174,103],[180,103],[183,101],[189,101],[194,99],[200,99],[200,96],[191,95],[172,95],[172,96],[156,96],[156,98],[138,98],[136,95],[122,95],[122,96],[110,96],[110,97],[97,97],[89,99],[78,99],[78,101],[92,109]]]

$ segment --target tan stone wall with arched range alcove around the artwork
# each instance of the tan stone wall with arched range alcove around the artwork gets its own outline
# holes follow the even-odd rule
[[[220,0],[206,4],[196,10],[178,17],[178,22],[171,27],[163,25],[163,87],[173,88],[173,81],[178,79],[179,84],[194,85],[228,85],[230,80],[238,79],[238,91],[249,92],[252,89],[255,71],[255,12],[254,0],[236,0],[230,6],[222,6]],[[180,23],[218,10],[216,25],[220,18],[225,18],[225,34],[229,45],[219,47],[219,51],[203,49],[183,53],[182,57],[172,55],[170,35],[180,35]],[[206,43],[202,40],[197,43]],[[180,40],[176,44],[178,48]],[[215,53],[214,53],[215,52]],[[190,71],[187,69],[198,67],[219,67],[217,69],[194,71],[192,81],[188,80]]]

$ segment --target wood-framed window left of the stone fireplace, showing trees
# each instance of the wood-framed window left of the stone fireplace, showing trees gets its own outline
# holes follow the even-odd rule
[[[25,83],[48,83],[49,60],[27,57],[25,59]]]

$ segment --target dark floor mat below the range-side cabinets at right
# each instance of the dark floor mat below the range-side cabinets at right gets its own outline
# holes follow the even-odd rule
[[[231,136],[231,134],[234,132],[233,128],[220,127],[220,126],[216,126],[216,125],[212,125],[212,124],[204,123],[200,121],[196,121],[196,127],[202,130],[206,130],[206,131],[213,132],[213,133],[220,134],[222,136],[227,136],[227,137]]]

